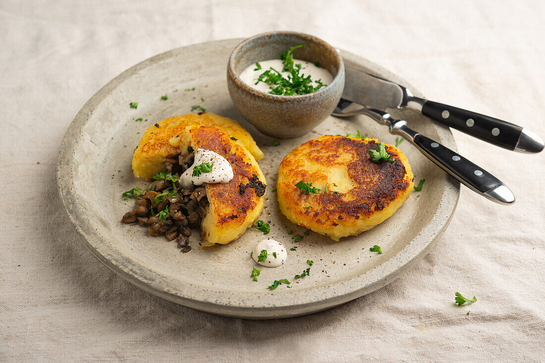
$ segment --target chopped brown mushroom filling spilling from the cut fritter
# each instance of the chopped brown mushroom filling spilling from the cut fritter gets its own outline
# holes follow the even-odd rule
[[[203,186],[181,188],[180,175],[193,164],[195,154],[169,155],[165,170],[153,176],[155,181],[136,196],[136,207],[125,213],[121,222],[138,222],[153,237],[165,236],[178,243],[181,252],[191,251],[191,229],[198,229],[208,206]]]

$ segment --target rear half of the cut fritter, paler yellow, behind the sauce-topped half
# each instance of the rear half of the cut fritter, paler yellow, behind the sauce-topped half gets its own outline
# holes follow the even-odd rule
[[[257,147],[256,141],[237,121],[209,112],[188,114],[159,121],[144,131],[132,156],[134,175],[150,179],[152,175],[163,170],[165,158],[178,153],[179,136],[189,125],[220,128],[228,133],[229,137],[237,139],[237,143],[246,147],[255,159],[263,158],[263,152]]]

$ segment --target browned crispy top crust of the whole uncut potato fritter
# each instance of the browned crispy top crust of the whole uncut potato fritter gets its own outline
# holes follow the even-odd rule
[[[393,163],[385,160],[373,162],[368,151],[377,149],[377,146],[378,141],[374,139],[343,136],[323,136],[307,141],[283,159],[280,167],[282,177],[279,175],[279,180],[283,181],[281,188],[278,186],[282,195],[278,198],[291,206],[291,212],[302,220],[312,220],[313,224],[324,227],[337,226],[339,220],[343,220],[343,224],[350,224],[350,220],[370,217],[407,192],[412,180],[412,173],[410,180],[407,179],[399,155],[401,152],[396,147],[385,145],[386,151],[394,159]],[[321,168],[306,170],[299,158],[293,158],[297,153],[304,153],[305,158],[319,163]],[[404,155],[402,159],[407,160]],[[347,165],[348,176],[354,182],[354,187],[335,193],[336,188],[328,183],[324,170],[342,165]],[[289,176],[286,175],[287,171]],[[313,187],[322,191],[304,194],[295,187],[299,180],[312,182]],[[329,193],[324,193],[324,185],[328,184]],[[305,208],[308,206],[311,207]]]

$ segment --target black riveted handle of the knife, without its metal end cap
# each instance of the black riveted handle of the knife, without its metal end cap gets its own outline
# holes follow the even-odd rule
[[[422,114],[490,144],[514,150],[522,127],[447,104],[426,101]]]

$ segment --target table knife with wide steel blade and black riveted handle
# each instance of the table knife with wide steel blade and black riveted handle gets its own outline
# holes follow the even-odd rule
[[[508,150],[536,153],[545,146],[537,134],[526,128],[447,104],[420,99],[400,84],[352,67],[346,67],[345,71],[347,82],[343,99],[381,110],[413,109],[440,124]]]

